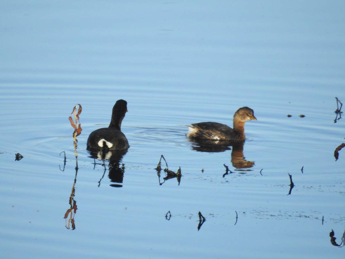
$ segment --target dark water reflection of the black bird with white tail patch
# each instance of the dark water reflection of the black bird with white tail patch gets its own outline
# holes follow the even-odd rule
[[[123,156],[127,153],[128,149],[121,149],[121,150],[94,150],[94,151],[89,151],[90,152],[90,157],[93,159],[101,160],[103,163],[102,165],[104,166],[104,173],[102,178],[99,180],[99,185],[100,182],[103,179],[105,172],[107,170],[105,161],[109,161],[108,167],[109,167],[109,174],[108,177],[110,179],[110,182],[114,184],[110,184],[112,187],[122,187],[121,184],[118,183],[123,183],[124,180],[124,172],[125,172],[125,165],[121,164]],[[95,162],[95,166],[96,166]]]

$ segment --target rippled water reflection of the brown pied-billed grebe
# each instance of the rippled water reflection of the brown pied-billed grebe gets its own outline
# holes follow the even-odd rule
[[[241,142],[220,142],[213,140],[191,141],[192,148],[200,152],[224,152],[231,151],[231,163],[237,169],[250,168],[255,165],[254,161],[247,161],[243,155],[244,141]]]

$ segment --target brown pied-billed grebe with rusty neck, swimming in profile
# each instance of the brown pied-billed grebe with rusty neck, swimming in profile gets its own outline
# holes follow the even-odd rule
[[[242,141],[246,138],[244,124],[252,119],[256,121],[254,111],[242,107],[234,114],[234,128],[217,122],[200,122],[188,126],[187,137],[192,140]]]

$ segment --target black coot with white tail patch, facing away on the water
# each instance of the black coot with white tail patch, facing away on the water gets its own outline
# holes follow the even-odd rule
[[[91,132],[87,140],[88,150],[125,149],[129,147],[128,140],[121,132],[121,123],[127,112],[127,102],[118,100],[112,108],[111,121],[108,128],[100,128]]]

